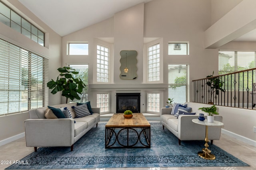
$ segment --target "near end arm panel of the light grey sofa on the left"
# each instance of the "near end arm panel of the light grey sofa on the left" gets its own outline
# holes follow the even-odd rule
[[[27,119],[27,147],[70,147],[74,144],[74,119]]]

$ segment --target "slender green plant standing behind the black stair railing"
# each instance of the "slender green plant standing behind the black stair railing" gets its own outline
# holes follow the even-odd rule
[[[213,77],[214,71],[212,72],[212,75],[207,76],[208,78],[208,82],[206,82],[207,86],[210,87],[210,99],[208,104],[213,104],[212,102],[212,95],[215,92],[215,96],[217,96],[219,94],[219,90],[221,92],[225,92],[225,89],[222,89],[222,86],[224,85],[224,82],[220,80],[220,78],[218,77],[214,77],[214,78],[209,78],[209,77]]]

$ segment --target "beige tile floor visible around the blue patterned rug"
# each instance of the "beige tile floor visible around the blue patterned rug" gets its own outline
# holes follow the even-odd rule
[[[233,156],[246,162],[250,166],[246,167],[186,167],[186,168],[96,168],[96,169],[80,169],[80,170],[256,170],[256,147],[231,138],[228,135],[221,134],[219,141],[214,141],[223,150],[226,150]],[[26,147],[25,138],[18,139],[0,147],[0,161],[20,160],[34,152],[33,147]],[[0,162],[2,163],[2,162]],[[0,170],[4,170],[10,166],[9,164],[0,164]],[[72,169],[75,170],[75,169]]]

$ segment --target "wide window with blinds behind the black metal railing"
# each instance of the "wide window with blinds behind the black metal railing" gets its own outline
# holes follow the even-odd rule
[[[254,51],[219,51],[219,72],[218,74],[228,74],[231,72],[247,70],[250,68],[256,67],[256,52]],[[247,75],[248,74],[248,75]],[[255,75],[255,70],[253,71],[253,75]],[[224,86],[226,89],[234,89],[234,84],[230,83],[232,80],[240,81],[241,84],[244,83],[244,87],[247,87],[247,77],[248,77],[248,88],[252,89],[252,72],[244,72],[244,80],[242,76],[236,77],[233,74],[232,76],[228,76],[226,78]],[[255,78],[254,78],[255,80]],[[224,80],[222,80],[224,81]],[[228,83],[229,82],[229,83]],[[237,83],[238,85],[238,83]],[[229,87],[228,87],[229,86]],[[232,86],[232,87],[230,87]],[[240,87],[242,88],[242,87]],[[243,89],[240,89],[243,90]]]

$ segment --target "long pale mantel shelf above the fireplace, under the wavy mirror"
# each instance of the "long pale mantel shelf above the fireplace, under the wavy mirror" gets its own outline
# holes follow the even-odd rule
[[[168,84],[88,84],[88,88],[91,91],[166,90],[168,88]]]

